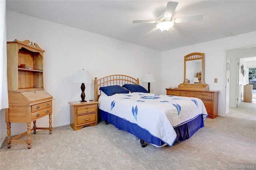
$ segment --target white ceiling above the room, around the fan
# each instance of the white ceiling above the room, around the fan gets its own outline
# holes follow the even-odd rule
[[[256,31],[256,0],[176,0],[172,18],[203,14],[202,21],[175,24],[164,34],[155,24],[166,0],[6,0],[6,10],[166,51]]]

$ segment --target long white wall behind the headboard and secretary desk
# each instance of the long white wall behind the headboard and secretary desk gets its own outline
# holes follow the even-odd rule
[[[52,126],[70,124],[70,101],[80,100],[81,83],[73,83],[77,69],[90,71],[94,77],[124,74],[140,79],[153,73],[156,83],[151,92],[161,90],[161,52],[99,34],[78,30],[15,12],[6,12],[7,41],[30,40],[44,49],[44,88],[53,101]],[[86,84],[86,99],[94,99],[94,84]],[[2,110],[1,115],[4,114]],[[2,117],[1,117],[2,118]],[[38,119],[37,127],[48,127],[48,117]],[[0,120],[6,126],[5,120]],[[26,124],[12,123],[12,134],[26,131]],[[5,129],[1,132],[6,134]]]

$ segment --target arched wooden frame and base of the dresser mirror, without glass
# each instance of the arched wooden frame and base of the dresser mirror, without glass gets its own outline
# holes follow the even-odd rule
[[[200,84],[187,84],[186,83],[186,61],[202,59],[202,70],[201,70],[201,83]],[[184,81],[178,86],[178,89],[186,90],[208,90],[208,84],[204,83],[204,53],[190,53],[184,56]]]

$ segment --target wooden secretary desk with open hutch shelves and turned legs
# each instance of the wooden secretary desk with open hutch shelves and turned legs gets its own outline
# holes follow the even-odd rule
[[[44,90],[43,53],[29,40],[7,42],[7,81],[9,108],[5,110],[8,148],[11,143],[26,143],[31,148],[31,131],[48,129],[52,134],[52,96]],[[36,127],[36,120],[49,115],[49,128]],[[31,129],[31,122],[34,126]],[[11,137],[11,123],[26,123],[26,132]],[[27,134],[27,140],[18,140]]]

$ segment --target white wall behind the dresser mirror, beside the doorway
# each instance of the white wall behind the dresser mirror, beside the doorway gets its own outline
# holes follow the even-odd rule
[[[162,94],[167,87],[179,85],[184,80],[184,56],[204,53],[204,82],[210,90],[219,90],[218,115],[226,115],[226,54],[225,49],[255,44],[256,32],[199,43],[162,52]],[[214,78],[218,83],[214,83]]]

